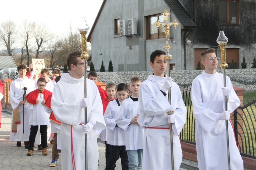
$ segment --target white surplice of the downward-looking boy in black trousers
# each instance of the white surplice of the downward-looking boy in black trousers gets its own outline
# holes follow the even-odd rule
[[[119,101],[120,105],[122,103]],[[118,106],[116,100],[109,102],[104,113],[106,126],[108,127],[107,143],[114,146],[125,146],[125,132],[122,128],[116,126],[116,119],[119,115],[121,106]]]

